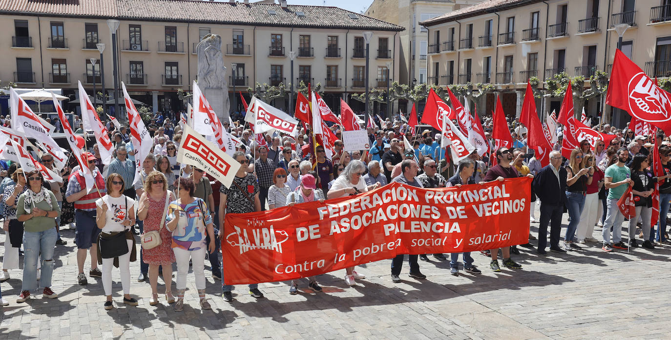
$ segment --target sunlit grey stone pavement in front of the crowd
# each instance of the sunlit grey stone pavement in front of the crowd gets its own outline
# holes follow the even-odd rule
[[[537,223],[531,230],[535,234]],[[460,276],[450,275],[449,262],[429,256],[431,262],[420,261],[427,280],[409,278],[406,263],[399,284],[391,282],[391,261],[384,260],[361,266],[368,278],[356,287],[345,285],[341,270],[319,276],[321,293],[305,280],[297,295],[289,294],[287,282],[261,284],[266,296],[256,300],[237,286],[234,302],[223,301],[219,282],[206,272],[213,310],[201,310],[189,274],[185,308],[176,313],[163,296],[149,305],[149,284],[135,280],[138,262],[131,264],[131,294],[140,305],[121,304],[114,270],[115,308],[104,310],[98,279],[76,284],[73,237],[64,231],[68,245],[56,246],[52,288],[58,299],[38,294],[17,304],[21,271],[10,270],[2,283],[11,303],[0,307],[0,339],[671,339],[671,246],[605,253],[600,243],[587,243],[547,256],[521,247],[513,258],[524,268],[500,273],[474,253],[482,274]]]

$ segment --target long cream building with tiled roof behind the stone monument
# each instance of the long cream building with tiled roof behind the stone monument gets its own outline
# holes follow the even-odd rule
[[[321,84],[333,109],[340,98],[365,88],[366,44],[370,39],[370,88],[397,78],[399,32],[403,27],[337,7],[183,0],[82,0],[78,3],[0,1],[0,36],[6,62],[0,80],[22,88],[62,88],[79,97],[77,80],[91,95],[95,83],[113,98],[113,48],[107,19],[116,32],[117,77],[130,95],[154,111],[178,111],[177,90],[191,91],[197,77],[197,44],[221,36],[232,103],[254,84]],[[10,34],[11,32],[11,34]],[[105,44],[101,73],[97,44]],[[296,52],[291,77],[291,53]],[[95,66],[91,59],[95,59]],[[389,66],[389,72],[388,72]],[[234,93],[234,89],[236,93]],[[234,97],[238,98],[234,100]],[[274,105],[289,109],[289,96]],[[66,104],[67,105],[67,104]],[[350,101],[354,110],[363,107]],[[6,113],[3,113],[6,114]]]

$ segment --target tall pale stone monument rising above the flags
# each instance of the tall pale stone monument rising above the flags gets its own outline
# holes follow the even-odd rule
[[[226,68],[223,66],[221,36],[207,34],[197,46],[198,87],[219,117],[221,123],[228,121],[230,102]]]

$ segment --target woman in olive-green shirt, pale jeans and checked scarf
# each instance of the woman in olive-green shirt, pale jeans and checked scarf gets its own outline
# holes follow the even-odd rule
[[[44,188],[44,177],[38,170],[25,175],[28,178],[28,190],[25,190],[17,202],[16,218],[23,222],[23,282],[21,294],[16,302],[30,298],[30,291],[37,287],[38,258],[42,257],[42,279],[40,280],[45,298],[56,298],[51,286],[54,272],[54,247],[56,246],[56,217],[60,208],[56,196]]]

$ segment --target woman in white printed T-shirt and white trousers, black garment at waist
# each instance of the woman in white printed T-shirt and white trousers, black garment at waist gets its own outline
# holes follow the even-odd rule
[[[137,306],[130,296],[130,262],[136,260],[135,237],[130,227],[135,225],[135,200],[123,194],[125,183],[119,174],[107,176],[107,194],[95,202],[95,223],[102,229],[98,237],[98,264],[103,266],[105,309],[112,304],[112,266],[121,272],[123,303]]]

